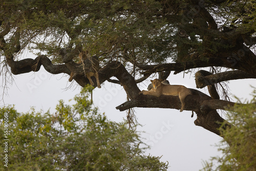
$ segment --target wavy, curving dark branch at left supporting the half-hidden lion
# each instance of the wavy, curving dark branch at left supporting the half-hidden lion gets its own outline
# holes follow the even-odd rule
[[[28,73],[31,71],[37,72],[39,71],[41,65],[44,66],[46,71],[49,73],[66,73],[70,75],[71,71],[67,66],[77,67],[77,63],[73,61],[66,63],[65,65],[53,65],[51,60],[45,55],[38,56],[35,59],[28,58],[20,61],[14,61],[13,57],[11,57],[7,58],[7,63],[11,67],[12,73],[15,75]],[[100,83],[108,80],[112,76],[115,76],[121,82],[127,96],[130,99],[134,99],[138,96],[140,90],[137,87],[134,77],[118,61],[113,61],[99,70]],[[75,80],[81,87],[84,87],[89,83],[89,80],[84,77],[84,75],[78,75]],[[92,80],[95,82],[95,84],[97,84],[95,78],[92,78]]]

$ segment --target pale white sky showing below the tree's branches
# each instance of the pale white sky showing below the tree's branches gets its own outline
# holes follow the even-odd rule
[[[68,76],[63,74],[52,75],[41,67],[39,72],[16,75],[15,83],[8,85],[8,96],[4,97],[5,104],[15,104],[18,112],[27,112],[31,106],[35,106],[36,111],[42,109],[47,112],[54,111],[58,100],[63,99],[66,104],[69,99],[80,92],[80,87],[70,86]],[[2,80],[2,78],[1,78]],[[182,84],[187,88],[196,89],[194,74],[183,73],[170,74],[168,79],[170,84]],[[140,90],[146,89],[150,83],[149,79],[140,83]],[[230,93],[239,98],[251,99],[250,87],[256,84],[256,80],[232,80],[229,84]],[[121,86],[109,82],[101,84],[102,88],[96,88],[93,92],[95,105],[100,109],[100,113],[105,113],[109,120],[122,121],[126,117],[126,112],[119,112],[116,106],[126,101],[125,91]],[[68,89],[67,89],[68,88]],[[3,93],[3,88],[0,89]],[[199,91],[208,94],[207,90]],[[233,98],[234,99],[234,98]],[[242,100],[243,101],[243,100]],[[3,106],[3,101],[0,106]],[[220,155],[215,146],[221,137],[211,133],[202,127],[196,126],[194,118],[191,118],[190,111],[179,112],[174,109],[146,109],[135,108],[138,122],[143,125],[138,127],[138,131],[143,131],[144,142],[152,145],[146,153],[153,156],[162,156],[162,161],[169,162],[168,170],[199,170],[202,168],[202,161],[208,160],[211,156]]]

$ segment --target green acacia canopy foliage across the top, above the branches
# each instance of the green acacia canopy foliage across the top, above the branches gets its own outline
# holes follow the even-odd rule
[[[102,64],[120,58],[123,63],[144,65],[168,59],[187,61],[204,58],[206,52],[229,50],[234,46],[231,40],[206,32],[209,16],[202,16],[204,8],[217,30],[224,33],[228,29],[250,35],[256,30],[254,1],[217,5],[181,0],[4,0],[1,4],[0,32],[9,28],[4,37],[9,50],[3,53],[0,49],[0,54],[19,57],[22,51],[15,51],[19,42],[21,49],[46,54],[55,64],[62,63],[60,48],[78,46],[90,55],[101,55]],[[181,30],[186,31],[186,37],[177,34]]]

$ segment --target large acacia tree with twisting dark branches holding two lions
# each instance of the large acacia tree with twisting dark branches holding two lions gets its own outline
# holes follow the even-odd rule
[[[197,88],[207,86],[211,97],[190,89],[184,110],[197,114],[196,125],[221,135],[224,119],[216,110],[234,103],[220,99],[216,84],[256,77],[254,2],[2,0],[0,6],[2,74],[44,66],[49,73],[69,76],[83,72],[79,53],[97,55],[100,83],[121,84],[130,99],[116,107],[120,111],[180,109],[178,97],[139,95],[137,84],[154,73],[166,79],[170,71],[196,72]],[[26,51],[36,57],[23,59]],[[210,72],[198,71],[202,67]],[[81,87],[90,83],[84,74],[74,80]]]

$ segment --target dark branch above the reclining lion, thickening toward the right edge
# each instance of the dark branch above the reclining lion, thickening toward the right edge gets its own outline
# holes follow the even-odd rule
[[[175,71],[174,74],[178,74],[182,71],[202,68],[202,67],[226,67],[231,69],[238,69],[256,75],[256,55],[251,52],[246,46],[242,46],[240,49],[232,52],[220,52],[215,56],[208,57],[204,60],[190,60],[186,62],[177,63],[164,63],[161,65],[138,65],[141,70],[146,70],[142,74],[156,73],[159,71]]]

